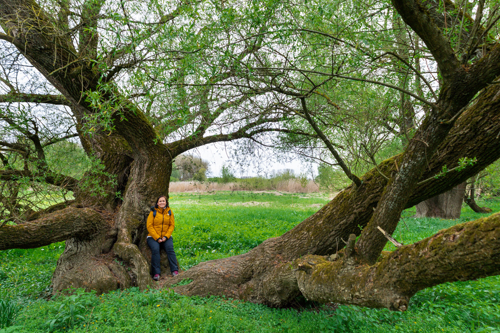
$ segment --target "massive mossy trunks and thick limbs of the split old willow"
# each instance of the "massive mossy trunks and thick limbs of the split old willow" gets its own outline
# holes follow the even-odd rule
[[[96,112],[96,106],[82,98],[82,89],[97,91],[101,74],[97,73],[98,67],[82,61],[96,58],[98,44],[98,34],[90,32],[97,30],[99,8],[95,5],[102,2],[89,3],[94,6],[82,15],[81,25],[89,28],[81,28],[78,40],[83,47],[76,50],[69,28],[67,33],[54,31],[63,17],[51,17],[33,0],[0,0],[0,24],[5,32],[0,38],[15,45],[61,92],[78,126]],[[439,3],[455,8],[450,1]],[[321,302],[404,311],[418,290],[447,281],[500,274],[499,214],[449,228],[390,254],[381,253],[387,239],[379,228],[390,235],[402,209],[451,189],[500,156],[500,87],[496,85],[500,45],[494,38],[483,38],[487,29],[480,27],[480,20],[472,21],[469,31],[476,34],[468,36],[466,45],[456,46],[466,50],[458,58],[455,47],[443,34],[448,29],[444,30],[439,21],[442,15],[438,2],[433,4],[392,1],[406,24],[425,43],[442,78],[438,98],[427,103],[429,111],[405,151],[358,177],[357,185],[343,190],[284,235],[268,239],[246,254],[189,269],[182,278],[192,282],[175,290],[187,295],[227,295],[273,306],[286,306],[303,295]],[[456,10],[447,13],[456,14]],[[460,19],[446,23],[468,24],[469,16],[457,15]],[[484,45],[482,55],[474,58],[479,44]],[[89,70],[84,70],[87,67]],[[112,72],[107,74],[112,76]],[[336,74],[332,71],[331,75]],[[251,137],[255,131],[267,130],[249,124],[227,135],[203,136],[215,112],[206,117],[208,125],[199,126],[196,133],[201,135],[161,144],[142,110],[122,98],[112,85],[101,92],[103,100],[120,105],[119,112],[112,115],[114,128],[97,131],[92,137],[79,134],[87,153],[96,155],[106,172],[122,176],[109,189],[113,195],[95,199],[82,194],[74,204],[43,214],[27,225],[0,228],[2,250],[66,241],[52,278],[55,291],[69,287],[97,292],[132,285],[145,288],[150,279],[143,255],[144,216],[147,203],[168,189],[172,156],[200,144]],[[307,97],[299,95],[297,98]],[[13,97],[20,100],[26,96]],[[475,158],[476,162],[434,177],[444,165],[452,170],[463,157]],[[2,177],[12,175],[5,173]],[[122,202],[114,197],[117,191],[122,191]],[[342,251],[343,241],[348,246]],[[336,252],[339,256],[334,262],[322,257]],[[131,276],[108,257],[125,262]]]

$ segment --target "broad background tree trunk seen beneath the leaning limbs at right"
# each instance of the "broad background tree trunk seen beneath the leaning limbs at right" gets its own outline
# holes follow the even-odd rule
[[[458,184],[453,189],[420,202],[416,207],[415,217],[437,217],[441,219],[459,219],[462,209],[466,183]]]

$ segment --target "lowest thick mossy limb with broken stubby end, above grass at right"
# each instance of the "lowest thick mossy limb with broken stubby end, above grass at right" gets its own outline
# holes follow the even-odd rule
[[[342,253],[334,262],[305,256],[293,267],[309,300],[405,311],[419,290],[500,274],[499,260],[497,213],[399,247],[373,266],[355,265]]]

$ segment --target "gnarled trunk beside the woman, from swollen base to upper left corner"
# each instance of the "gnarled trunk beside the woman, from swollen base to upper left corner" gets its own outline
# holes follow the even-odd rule
[[[113,130],[84,134],[81,128],[85,127],[85,116],[99,111],[82,94],[98,89],[99,73],[90,67],[79,69],[87,65],[78,59],[82,54],[74,49],[69,36],[58,33],[35,1],[1,1],[0,8],[3,29],[22,41],[14,44],[70,102],[85,151],[98,158],[104,172],[116,180],[111,184],[109,177],[102,174],[97,178],[104,193],[75,193],[74,207],[94,207],[106,223],[91,237],[75,234],[59,238],[66,239],[66,245],[52,278],[54,290],[82,287],[103,292],[132,285],[145,288],[150,281],[147,253],[141,253],[137,244],[143,238],[148,207],[168,192],[175,153],[157,143],[156,132],[144,114],[112,85],[102,98],[113,99],[120,106],[119,112],[112,115]],[[39,28],[26,30],[26,24]],[[59,44],[54,44],[56,35]],[[122,200],[116,197],[119,192]],[[117,265],[114,258],[124,266]]]

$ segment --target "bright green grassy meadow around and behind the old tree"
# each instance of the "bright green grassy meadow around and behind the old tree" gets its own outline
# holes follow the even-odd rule
[[[329,200],[323,193],[171,193],[174,246],[182,270],[201,261],[244,253],[279,236]],[[500,211],[500,202],[479,202]],[[477,219],[413,219],[394,233],[403,244]],[[393,250],[389,243],[386,250]],[[417,293],[404,313],[298,302],[271,309],[227,298],[185,297],[168,289],[131,288],[95,296],[76,290],[53,296],[50,278],[63,243],[0,252],[0,333],[14,332],[451,332],[500,333],[500,277],[447,283]],[[187,283],[182,281],[181,283]]]

